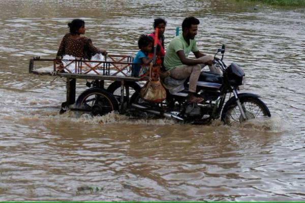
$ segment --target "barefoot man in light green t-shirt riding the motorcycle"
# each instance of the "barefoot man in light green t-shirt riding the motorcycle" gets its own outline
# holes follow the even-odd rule
[[[212,63],[214,58],[201,53],[197,48],[195,36],[199,23],[193,16],[185,18],[182,22],[182,34],[170,42],[164,57],[164,66],[171,78],[184,80],[190,77],[187,99],[189,103],[200,103],[203,100],[202,97],[196,96],[196,86],[202,67],[209,65],[210,72],[221,74]],[[196,59],[188,58],[191,51]]]

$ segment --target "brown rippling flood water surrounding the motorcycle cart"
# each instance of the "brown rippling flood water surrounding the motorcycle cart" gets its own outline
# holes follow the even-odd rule
[[[164,17],[200,20],[200,50],[226,44],[245,71],[245,92],[271,118],[228,127],[166,119],[59,115],[62,78],[28,74],[52,58],[74,18],[109,53],[134,54]],[[305,10],[225,0],[0,0],[0,200],[305,200]],[[78,81],[78,94],[85,89]]]

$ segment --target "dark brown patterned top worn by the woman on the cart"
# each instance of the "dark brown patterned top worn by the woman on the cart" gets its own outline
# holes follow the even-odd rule
[[[100,53],[100,50],[93,46],[89,38],[80,37],[74,40],[71,33],[67,33],[60,43],[56,56],[71,55],[90,59],[97,53]]]

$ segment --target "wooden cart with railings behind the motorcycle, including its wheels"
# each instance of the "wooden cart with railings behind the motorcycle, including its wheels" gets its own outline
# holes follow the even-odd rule
[[[105,114],[113,110],[124,113],[130,105],[130,88],[139,91],[140,86],[137,82],[147,80],[145,77],[135,78],[130,76],[131,66],[133,64],[132,60],[132,56],[109,54],[105,56],[104,61],[90,61],[75,58],[66,60],[64,61],[65,63],[63,63],[61,58],[43,59],[33,57],[29,60],[28,72],[37,75],[66,78],[67,100],[62,104],[62,110],[60,112],[71,109],[88,111],[93,114]],[[49,66],[44,65],[38,67],[37,63],[45,63]],[[51,63],[52,65],[50,65]],[[73,66],[72,70],[71,66]],[[91,88],[85,90],[76,99],[77,79],[86,79],[92,82],[86,84]],[[107,89],[104,87],[105,81],[112,81]],[[117,88],[120,88],[120,94],[114,95],[114,90]],[[92,98],[86,94],[91,94],[89,96],[92,96]],[[94,101],[92,106],[86,104],[89,101]],[[97,105],[98,103],[100,105]],[[104,110],[102,111],[101,109],[103,108]]]

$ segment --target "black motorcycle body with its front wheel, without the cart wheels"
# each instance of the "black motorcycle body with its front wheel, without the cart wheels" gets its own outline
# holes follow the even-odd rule
[[[259,95],[238,93],[239,86],[245,83],[246,76],[236,63],[233,62],[229,66],[224,63],[224,45],[218,49],[215,56],[218,53],[221,53],[222,57],[216,58],[214,64],[223,75],[201,72],[197,94],[204,98],[202,103],[187,103],[188,81],[185,83],[186,88],[180,92],[171,94],[167,91],[166,100],[160,104],[141,99],[138,93],[140,87],[136,87],[137,84],[134,83],[132,86],[136,92],[131,97],[131,108],[134,108],[132,112],[147,112],[193,124],[207,124],[221,117],[224,124],[234,125],[250,119],[270,117],[269,109]],[[115,88],[108,89],[112,91]],[[226,101],[228,94],[229,99]]]

